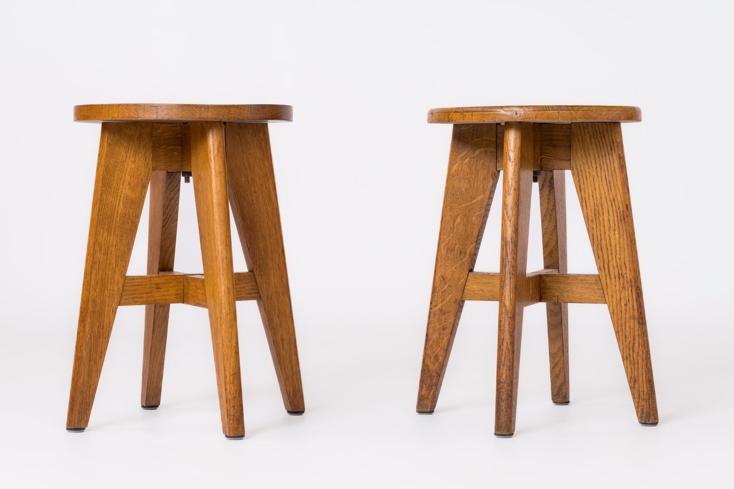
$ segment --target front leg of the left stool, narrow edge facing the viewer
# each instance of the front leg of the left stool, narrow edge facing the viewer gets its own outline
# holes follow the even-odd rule
[[[222,431],[244,437],[224,123],[191,124],[191,167]]]

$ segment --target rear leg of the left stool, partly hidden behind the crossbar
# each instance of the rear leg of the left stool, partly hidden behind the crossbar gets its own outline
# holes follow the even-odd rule
[[[153,172],[150,178],[148,275],[173,270],[180,191],[181,172]],[[145,341],[143,342],[142,391],[140,394],[140,405],[143,409],[155,409],[161,404],[161,384],[170,307],[170,304],[145,306]]]

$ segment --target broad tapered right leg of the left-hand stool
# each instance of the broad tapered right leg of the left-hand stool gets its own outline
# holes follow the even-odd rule
[[[232,213],[247,267],[260,290],[258,308],[275,374],[290,414],[302,414],[303,388],[288,288],[268,125],[228,123],[227,174]]]

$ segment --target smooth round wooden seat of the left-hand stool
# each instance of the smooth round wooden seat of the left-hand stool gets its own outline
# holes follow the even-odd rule
[[[74,106],[82,122],[258,122],[293,120],[290,105],[98,104]]]

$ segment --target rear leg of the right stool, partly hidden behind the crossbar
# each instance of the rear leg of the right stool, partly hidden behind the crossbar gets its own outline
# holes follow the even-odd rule
[[[566,183],[564,170],[540,172],[540,219],[543,236],[543,268],[567,273]],[[551,399],[569,402],[568,304],[547,303],[548,353],[551,359]]]

